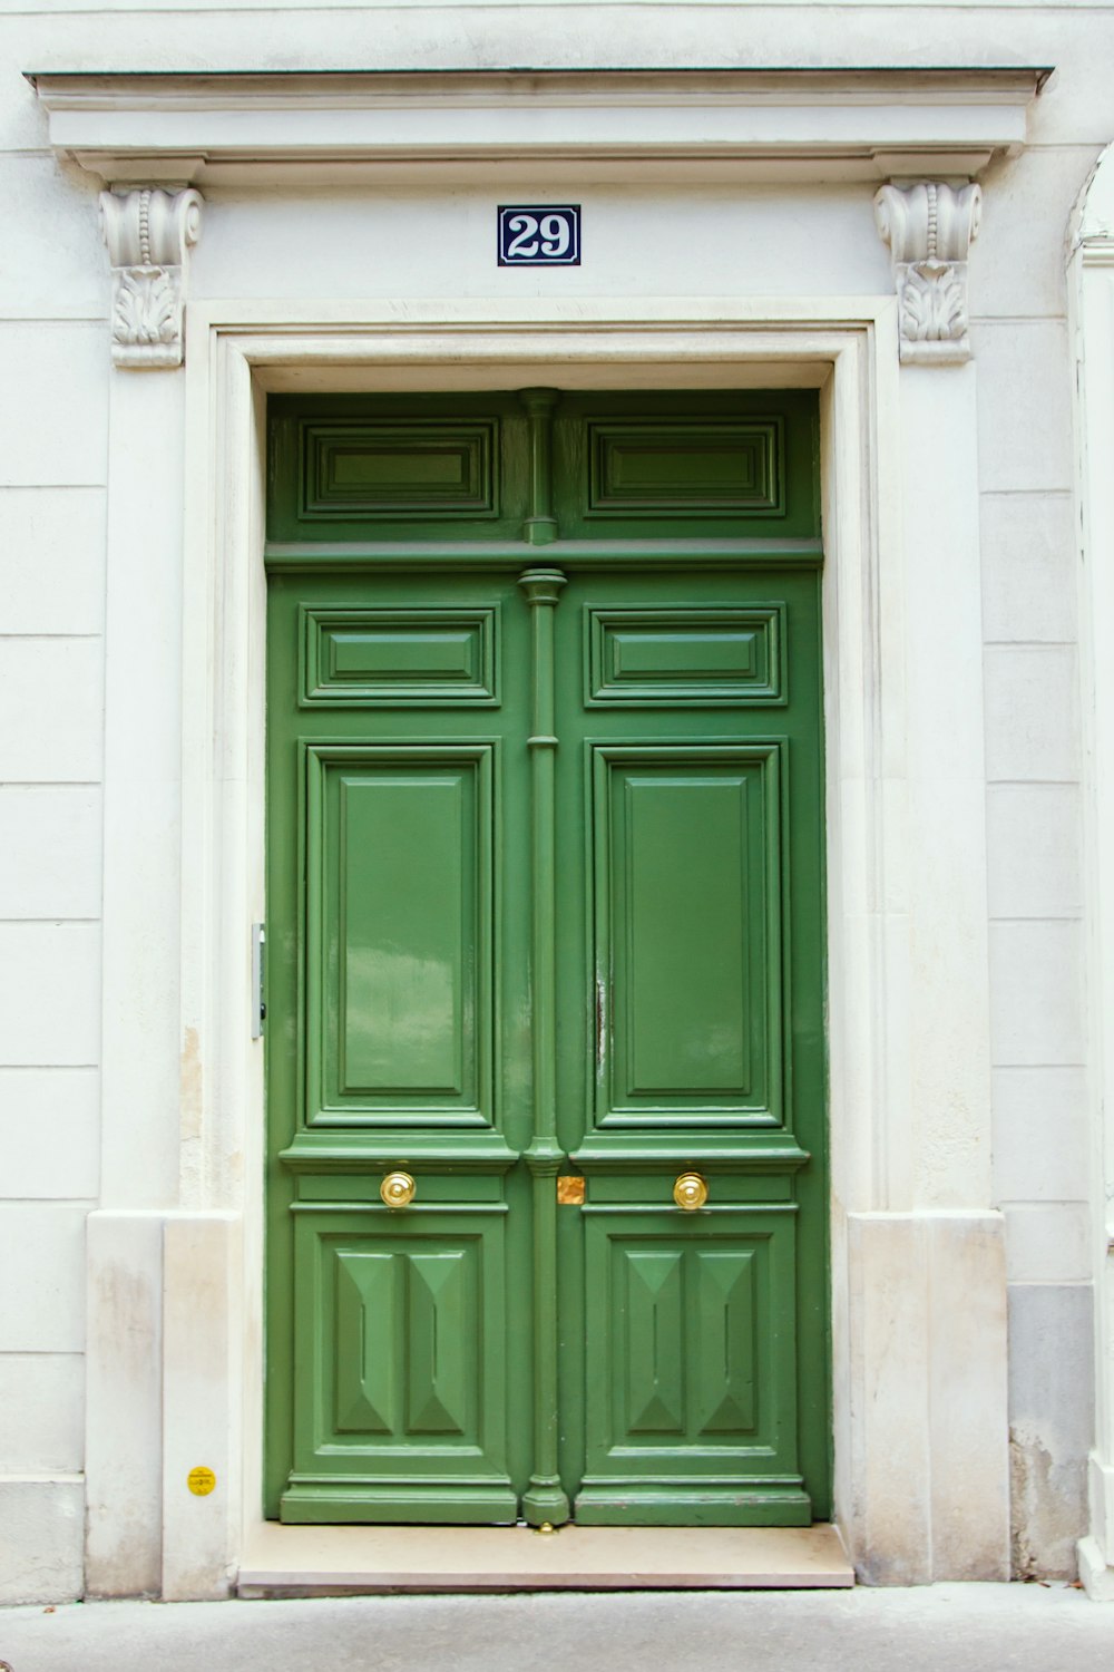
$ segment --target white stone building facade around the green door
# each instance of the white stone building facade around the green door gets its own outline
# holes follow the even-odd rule
[[[529,383],[822,390],[837,1520],[1114,1592],[1112,52],[0,8],[0,1600],[225,1595],[261,1522],[266,393]],[[580,268],[496,268],[511,187]]]

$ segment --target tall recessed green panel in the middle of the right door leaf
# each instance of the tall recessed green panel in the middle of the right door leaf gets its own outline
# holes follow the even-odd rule
[[[778,749],[593,746],[601,1127],[780,1119]]]

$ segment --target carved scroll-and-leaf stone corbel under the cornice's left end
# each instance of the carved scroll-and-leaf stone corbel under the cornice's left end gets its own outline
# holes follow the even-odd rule
[[[200,234],[202,196],[192,187],[100,194],[100,231],[112,263],[112,361],[182,364],[185,263]]]

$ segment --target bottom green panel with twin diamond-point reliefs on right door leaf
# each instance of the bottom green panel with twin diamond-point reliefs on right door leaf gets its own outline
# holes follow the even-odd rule
[[[797,1466],[795,1214],[586,1211],[580,1522],[812,1520]]]

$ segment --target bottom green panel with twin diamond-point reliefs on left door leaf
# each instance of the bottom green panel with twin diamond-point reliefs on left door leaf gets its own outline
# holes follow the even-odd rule
[[[506,1522],[504,1212],[296,1207],[284,1522]]]

